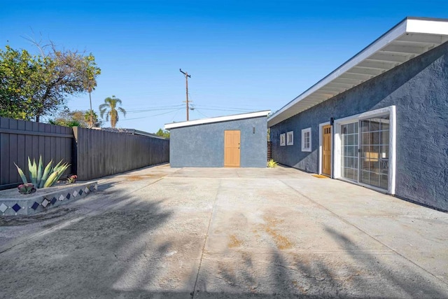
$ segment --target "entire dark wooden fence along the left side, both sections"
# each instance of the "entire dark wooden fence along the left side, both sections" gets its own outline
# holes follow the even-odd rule
[[[14,162],[28,176],[27,158],[39,155],[45,165],[69,162],[66,174],[85,181],[169,162],[169,139],[0,117],[0,190],[22,181]]]

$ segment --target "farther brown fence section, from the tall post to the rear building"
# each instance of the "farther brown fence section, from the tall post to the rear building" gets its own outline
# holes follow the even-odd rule
[[[169,140],[73,127],[76,173],[86,181],[169,161]]]

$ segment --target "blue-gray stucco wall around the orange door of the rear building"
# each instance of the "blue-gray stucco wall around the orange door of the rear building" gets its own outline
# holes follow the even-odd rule
[[[255,134],[253,133],[255,127]],[[170,130],[172,167],[223,167],[224,131],[241,132],[241,167],[266,167],[267,118],[246,118]]]

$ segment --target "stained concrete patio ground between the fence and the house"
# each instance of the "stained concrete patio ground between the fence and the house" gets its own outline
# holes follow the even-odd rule
[[[0,298],[448,298],[448,214],[285,167],[149,167],[0,218]]]

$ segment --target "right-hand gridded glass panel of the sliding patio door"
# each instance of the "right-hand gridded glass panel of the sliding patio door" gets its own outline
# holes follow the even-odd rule
[[[359,181],[388,188],[389,117],[360,120]]]

